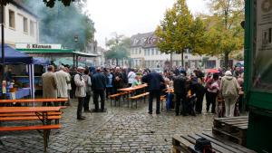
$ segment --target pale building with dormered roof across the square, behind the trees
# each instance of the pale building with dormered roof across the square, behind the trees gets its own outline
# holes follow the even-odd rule
[[[131,36],[131,67],[165,68],[167,65],[181,66],[181,54],[160,53],[156,46],[158,37],[154,33],[138,33]],[[222,67],[224,61],[219,56],[194,55],[186,51],[183,54],[184,66],[191,69],[214,69]],[[230,58],[229,66],[238,61]]]

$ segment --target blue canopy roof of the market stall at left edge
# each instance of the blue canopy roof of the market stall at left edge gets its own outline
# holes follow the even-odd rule
[[[0,44],[0,51],[1,51],[2,45]],[[2,53],[0,53],[0,62],[2,63]],[[18,63],[24,63],[24,64],[30,64],[33,62],[33,58],[25,53],[21,53],[14,48],[8,46],[5,44],[5,63],[10,64],[18,64]]]

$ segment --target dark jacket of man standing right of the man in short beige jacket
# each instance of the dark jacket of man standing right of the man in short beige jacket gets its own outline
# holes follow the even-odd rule
[[[92,90],[106,89],[106,76],[101,72],[96,72],[92,75]]]

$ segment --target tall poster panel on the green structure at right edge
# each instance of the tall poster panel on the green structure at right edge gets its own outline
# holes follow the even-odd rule
[[[272,0],[255,0],[253,87],[272,91]]]

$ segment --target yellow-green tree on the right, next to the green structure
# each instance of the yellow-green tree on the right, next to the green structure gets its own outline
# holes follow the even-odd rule
[[[230,53],[236,53],[244,46],[244,29],[240,23],[245,20],[245,0],[211,0],[214,15],[206,18],[209,39],[209,54],[219,54],[228,68]]]

